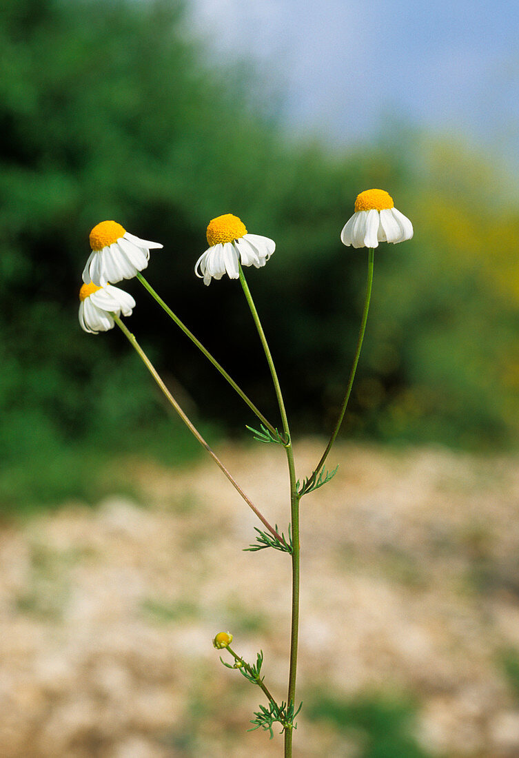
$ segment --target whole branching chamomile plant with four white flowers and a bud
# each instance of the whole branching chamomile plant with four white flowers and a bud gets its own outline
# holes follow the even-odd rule
[[[336,440],[337,434],[344,418],[345,409],[349,402],[355,372],[357,371],[358,359],[361,354],[364,332],[367,324],[367,313],[370,306],[370,297],[374,274],[374,251],[380,243],[400,243],[410,240],[413,236],[411,221],[395,208],[392,197],[383,189],[367,189],[361,192],[356,201],[354,213],[342,229],[340,238],[345,246],[354,248],[366,247],[367,254],[367,282],[364,296],[364,305],[361,312],[361,325],[358,334],[357,346],[352,359],[352,368],[349,377],[345,380],[345,394],[336,424],[331,431],[330,439],[324,448],[324,452],[314,468],[308,472],[302,480],[295,476],[295,460],[292,448],[292,436],[289,427],[289,419],[286,414],[286,406],[283,391],[277,376],[274,358],[270,352],[267,336],[261,325],[261,319],[252,298],[251,290],[245,279],[244,268],[254,266],[264,268],[270,257],[274,254],[276,244],[270,237],[258,233],[249,233],[245,224],[236,215],[227,213],[213,218],[207,227],[206,237],[208,249],[199,256],[195,263],[195,274],[203,280],[205,285],[211,280],[220,280],[227,276],[239,281],[245,296],[245,303],[249,308],[254,321],[258,338],[264,350],[264,356],[270,371],[270,377],[274,385],[277,397],[277,405],[280,412],[280,424],[273,424],[252,402],[252,399],[233,380],[230,374],[220,365],[217,359],[202,345],[194,334],[180,321],[180,318],[170,309],[152,285],[142,275],[150,260],[150,250],[160,249],[161,243],[142,240],[140,237],[128,233],[121,224],[116,221],[102,221],[97,224],[90,233],[90,245],[92,252],[83,270],[83,287],[80,289],[80,325],[90,334],[98,334],[116,326],[127,337],[130,345],[136,350],[148,369],[152,378],[158,384],[164,396],[173,406],[174,410],[186,424],[189,431],[199,440],[206,449],[214,463],[220,468],[230,484],[237,490],[247,506],[255,513],[261,525],[255,528],[254,541],[245,547],[251,553],[258,550],[274,549],[286,553],[287,581],[292,587],[292,600],[290,609],[291,628],[289,637],[289,650],[287,650],[288,682],[286,692],[278,697],[265,682],[262,667],[264,653],[260,651],[255,661],[246,661],[239,653],[236,653],[233,644],[233,635],[229,631],[220,631],[214,637],[214,647],[227,655],[227,659],[221,658],[227,669],[232,669],[244,677],[250,684],[261,691],[262,702],[251,719],[252,729],[264,729],[274,736],[275,731],[283,734],[284,755],[292,756],[293,735],[296,728],[296,716],[301,710],[301,703],[296,697],[296,682],[298,668],[298,641],[299,641],[299,593],[301,581],[301,558],[302,549],[299,541],[299,506],[306,494],[324,487],[336,474],[337,468],[327,468],[327,458]],[[192,264],[190,264],[192,265]],[[186,415],[177,399],[173,396],[166,384],[156,371],[154,365],[146,356],[144,350],[137,342],[136,337],[128,329],[123,318],[128,318],[136,307],[132,296],[115,287],[114,284],[123,279],[136,277],[145,290],[160,305],[174,324],[183,331],[186,337],[195,344],[202,355],[211,365],[220,372],[222,377],[233,387],[233,390],[249,407],[256,416],[254,426],[248,426],[249,430],[258,443],[274,444],[280,446],[286,456],[287,475],[289,480],[289,503],[286,514],[280,514],[279,522],[283,523],[289,514],[287,528],[279,528],[277,523],[270,524],[264,517],[261,509],[252,502],[249,496],[233,477],[224,462],[205,441],[195,424]],[[289,578],[290,576],[290,578]]]

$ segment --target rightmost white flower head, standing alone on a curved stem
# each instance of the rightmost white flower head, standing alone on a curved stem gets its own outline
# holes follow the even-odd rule
[[[413,224],[397,211],[384,189],[366,189],[355,200],[355,213],[341,232],[345,245],[378,247],[380,242],[411,240]]]

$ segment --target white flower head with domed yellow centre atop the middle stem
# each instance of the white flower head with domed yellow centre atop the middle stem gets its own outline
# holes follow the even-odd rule
[[[259,234],[249,234],[245,224],[232,213],[213,218],[207,228],[209,247],[195,265],[195,274],[204,284],[211,279],[239,279],[238,262],[242,266],[264,266],[276,249],[274,240]]]

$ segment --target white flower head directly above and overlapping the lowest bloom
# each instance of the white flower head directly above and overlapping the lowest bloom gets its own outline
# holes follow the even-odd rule
[[[102,221],[90,232],[90,247],[92,252],[83,270],[83,281],[105,287],[108,281],[134,277],[148,265],[149,251],[162,245],[141,240],[116,221]]]

